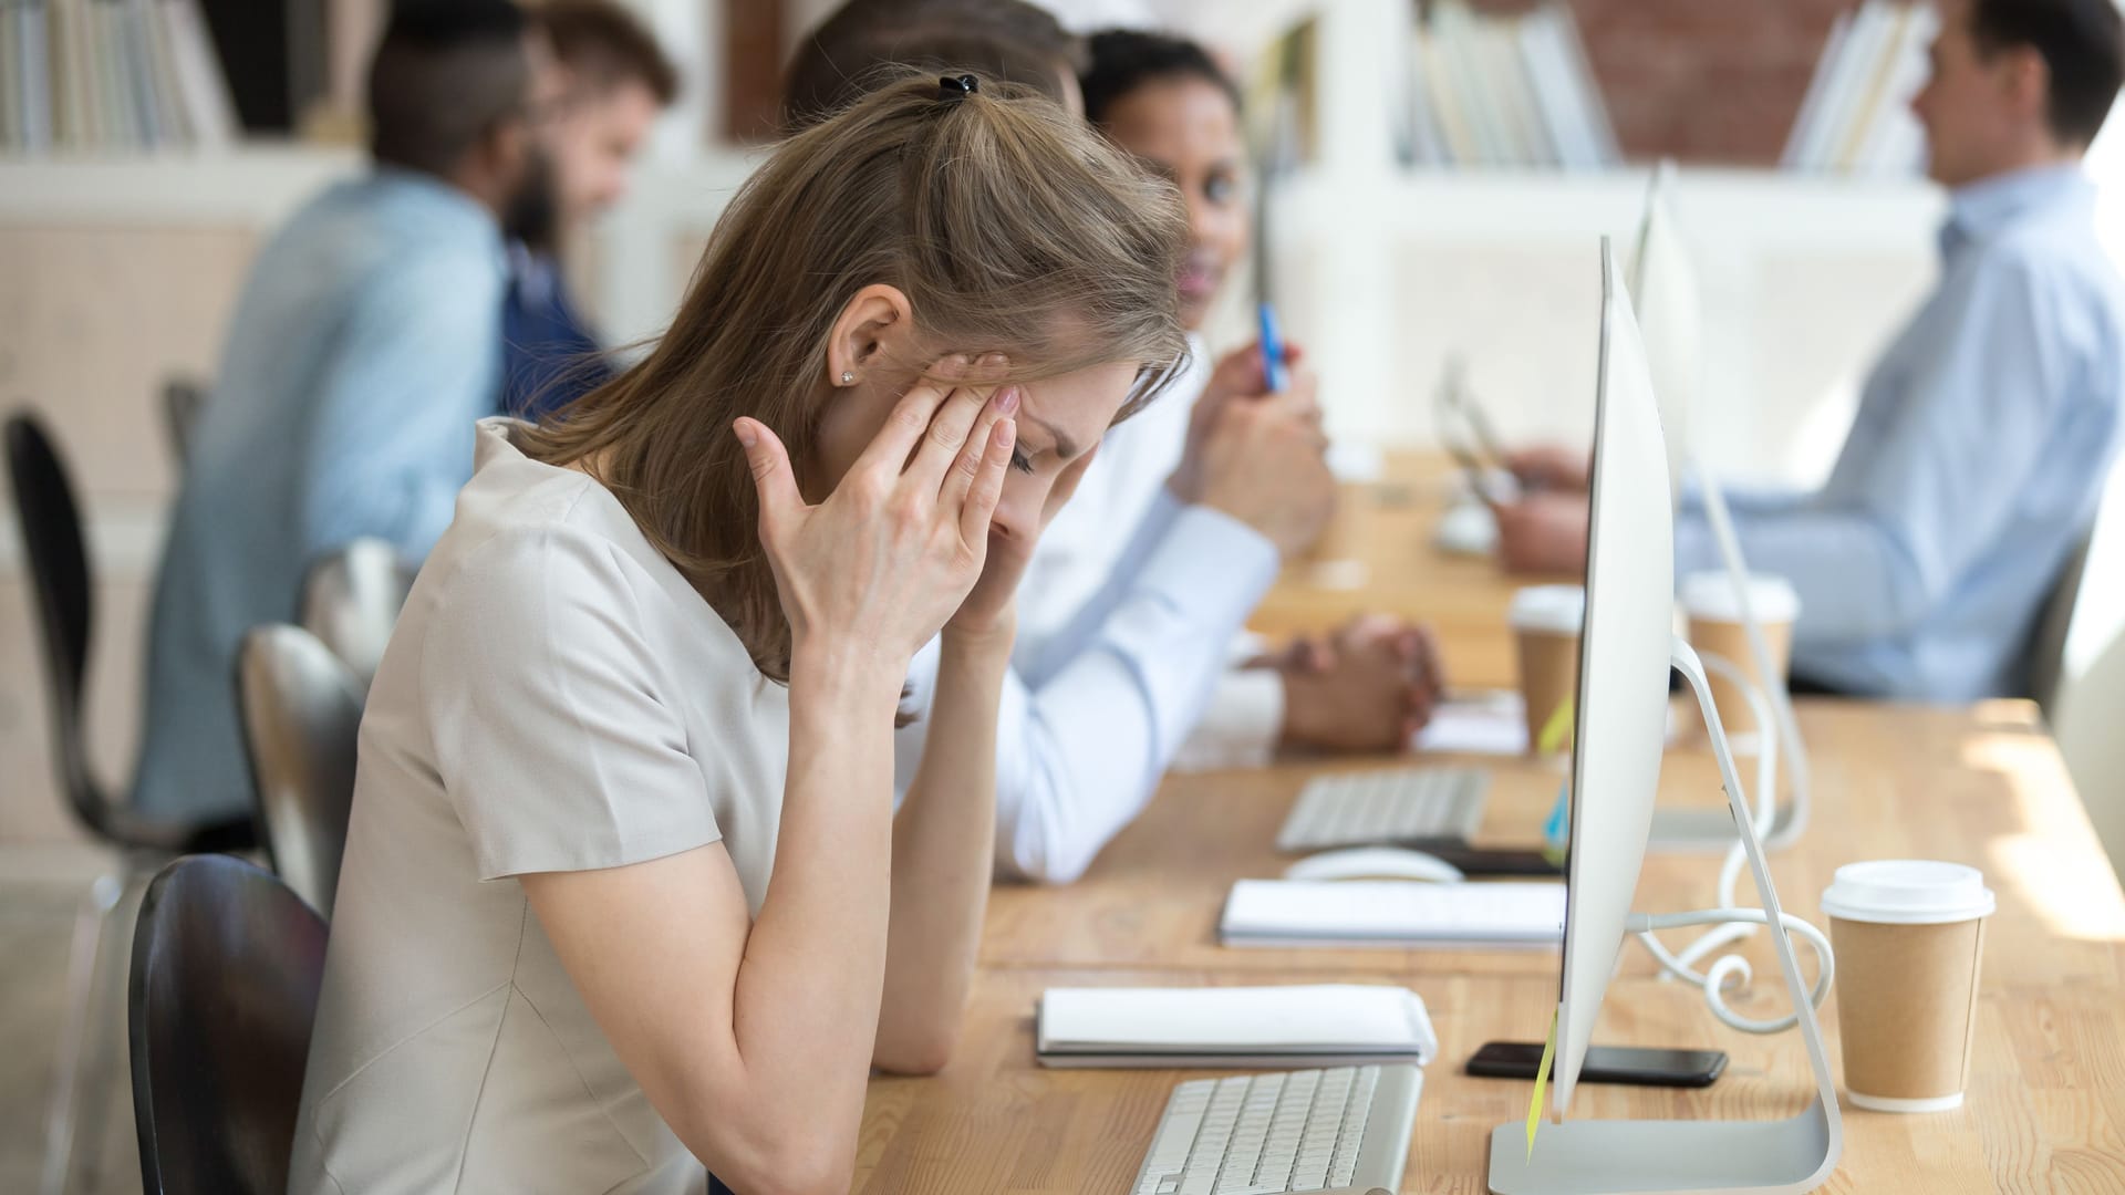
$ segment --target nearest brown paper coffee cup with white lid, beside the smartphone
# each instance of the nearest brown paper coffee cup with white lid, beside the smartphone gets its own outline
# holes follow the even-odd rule
[[[1959,1108],[1993,893],[1976,868],[1885,859],[1823,891],[1838,959],[1844,1095],[1874,1112]]]

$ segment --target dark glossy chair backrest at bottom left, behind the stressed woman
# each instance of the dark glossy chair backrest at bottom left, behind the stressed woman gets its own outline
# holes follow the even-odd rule
[[[147,1195],[287,1191],[325,923],[270,874],[187,855],[134,929],[125,1029]]]

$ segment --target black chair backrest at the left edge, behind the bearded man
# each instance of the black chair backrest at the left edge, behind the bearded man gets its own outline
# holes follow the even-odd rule
[[[6,421],[6,464],[45,640],[45,687],[51,693],[51,746],[60,765],[60,789],[74,806],[74,814],[100,831],[108,800],[89,770],[81,717],[89,634],[96,627],[96,591],[89,585],[89,553],[81,538],[81,508],[74,504],[74,485],[57,449],[51,447],[51,436],[28,410]]]

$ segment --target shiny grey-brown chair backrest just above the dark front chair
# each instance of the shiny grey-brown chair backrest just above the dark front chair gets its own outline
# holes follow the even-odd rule
[[[361,685],[302,627],[253,627],[236,653],[259,838],[274,872],[332,916],[355,802]]]

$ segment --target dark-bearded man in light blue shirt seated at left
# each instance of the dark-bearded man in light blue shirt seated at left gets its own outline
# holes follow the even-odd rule
[[[149,642],[134,802],[251,808],[234,661],[357,536],[427,555],[472,476],[502,342],[502,219],[546,170],[552,68],[508,0],[406,0],[370,66],[376,168],[259,253],[200,419]]]

